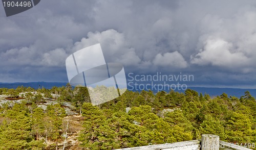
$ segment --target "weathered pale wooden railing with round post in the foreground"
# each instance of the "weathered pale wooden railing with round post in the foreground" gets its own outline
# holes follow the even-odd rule
[[[254,148],[254,146],[255,145],[253,144],[250,145],[251,148]],[[163,150],[181,150],[181,149],[182,150],[219,150],[219,149],[249,150],[250,148],[220,141],[220,137],[217,135],[203,134],[201,140],[122,148],[122,149],[116,149],[116,150],[158,150],[158,149],[163,149]]]

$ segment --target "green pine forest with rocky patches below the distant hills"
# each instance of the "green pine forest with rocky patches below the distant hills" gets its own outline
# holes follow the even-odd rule
[[[117,149],[200,139],[202,134],[256,149],[256,101],[248,91],[235,97],[190,89],[126,90],[98,106],[91,104],[86,87],[69,84],[0,88],[0,95],[0,149]],[[54,103],[38,107],[46,101]],[[76,115],[67,115],[66,102]]]

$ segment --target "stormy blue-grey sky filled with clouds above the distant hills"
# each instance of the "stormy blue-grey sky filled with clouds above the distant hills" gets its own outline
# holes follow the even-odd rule
[[[256,88],[256,1],[43,0],[6,17],[0,82],[68,82],[65,61],[100,43],[129,73],[188,74],[188,86]]]

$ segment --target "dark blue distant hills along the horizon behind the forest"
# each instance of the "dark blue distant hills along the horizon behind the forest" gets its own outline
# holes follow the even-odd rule
[[[51,89],[53,86],[61,87],[66,86],[67,83],[63,82],[16,82],[16,83],[0,83],[0,88],[17,88],[18,86],[32,87],[38,89],[39,87],[44,87],[46,89]],[[240,97],[244,95],[245,91],[249,91],[253,97],[256,97],[256,89],[239,89],[239,88],[208,88],[208,87],[188,87],[189,89],[196,90],[198,93],[209,94],[210,96],[221,95],[226,93],[228,96],[237,96]],[[132,90],[135,91],[135,90]],[[184,90],[176,90],[178,92],[184,92]],[[157,93],[158,91],[154,91]],[[166,91],[169,92],[169,91]]]

